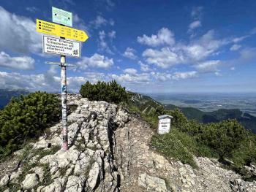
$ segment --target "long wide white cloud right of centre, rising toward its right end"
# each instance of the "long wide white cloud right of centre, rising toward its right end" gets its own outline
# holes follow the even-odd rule
[[[219,48],[228,43],[230,41],[227,39],[216,39],[214,30],[210,30],[188,45],[179,43],[173,47],[162,47],[160,50],[150,48],[142,55],[148,64],[166,69],[177,64],[197,64],[208,56],[217,55]]]

